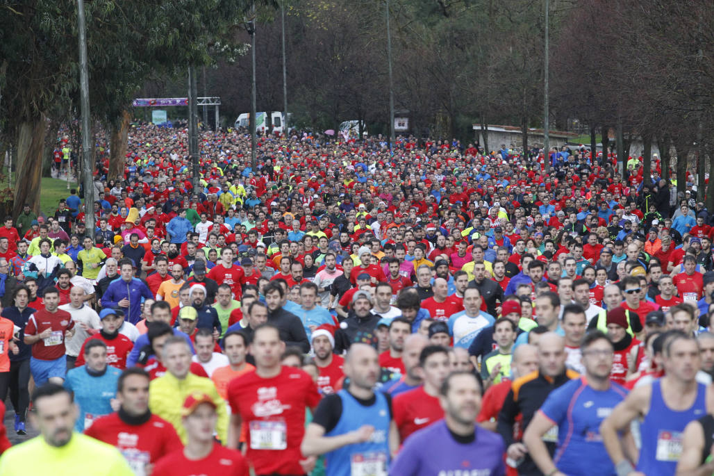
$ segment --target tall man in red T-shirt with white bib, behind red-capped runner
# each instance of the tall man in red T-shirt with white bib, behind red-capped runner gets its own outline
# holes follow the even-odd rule
[[[271,324],[253,334],[256,370],[228,385],[231,425],[228,448],[236,448],[241,422],[247,429],[246,457],[256,475],[302,475],[315,458],[304,459],[300,445],[305,433],[305,409],[313,413],[320,401],[317,386],[306,372],[281,365],[285,343]]]

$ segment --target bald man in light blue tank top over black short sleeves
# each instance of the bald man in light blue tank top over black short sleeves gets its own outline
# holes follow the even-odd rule
[[[390,400],[373,390],[379,376],[376,350],[368,344],[352,344],[343,368],[350,385],[320,402],[303,437],[303,455],[325,455],[331,476],[366,474],[369,465],[378,465],[372,471],[386,474],[398,439]],[[356,460],[356,452],[371,457]]]

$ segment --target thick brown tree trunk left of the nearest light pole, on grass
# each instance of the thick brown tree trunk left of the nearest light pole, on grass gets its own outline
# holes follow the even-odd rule
[[[42,152],[46,132],[47,122],[44,115],[21,122],[19,125],[13,217],[20,214],[24,204],[29,204],[36,214],[40,212]]]

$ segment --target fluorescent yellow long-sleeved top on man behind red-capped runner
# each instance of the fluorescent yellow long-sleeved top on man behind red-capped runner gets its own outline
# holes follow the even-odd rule
[[[181,408],[183,401],[191,392],[204,392],[216,404],[218,413],[216,432],[218,438],[225,445],[228,438],[226,402],[218,395],[216,385],[213,385],[211,379],[198,377],[198,375],[188,372],[185,379],[178,380],[171,372],[166,372],[163,377],[152,380],[149,385],[149,410],[174,425],[178,437],[181,438],[183,445],[186,445],[188,436],[181,423]]]

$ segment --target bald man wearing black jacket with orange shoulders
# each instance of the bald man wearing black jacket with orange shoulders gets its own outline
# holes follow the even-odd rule
[[[571,379],[578,377],[578,372],[565,368],[565,338],[555,332],[545,332],[538,339],[538,370],[518,378],[511,385],[511,390],[506,395],[501,413],[498,414],[498,433],[506,442],[506,455],[518,463],[518,475],[542,475],[538,466],[528,455],[528,449],[522,442],[513,438],[513,424],[516,417],[523,415],[521,427],[528,428],[535,412],[538,411],[550,392],[565,385]],[[553,427],[543,435],[543,442],[548,448],[548,454],[553,457],[556,442],[558,442],[558,429]]]

